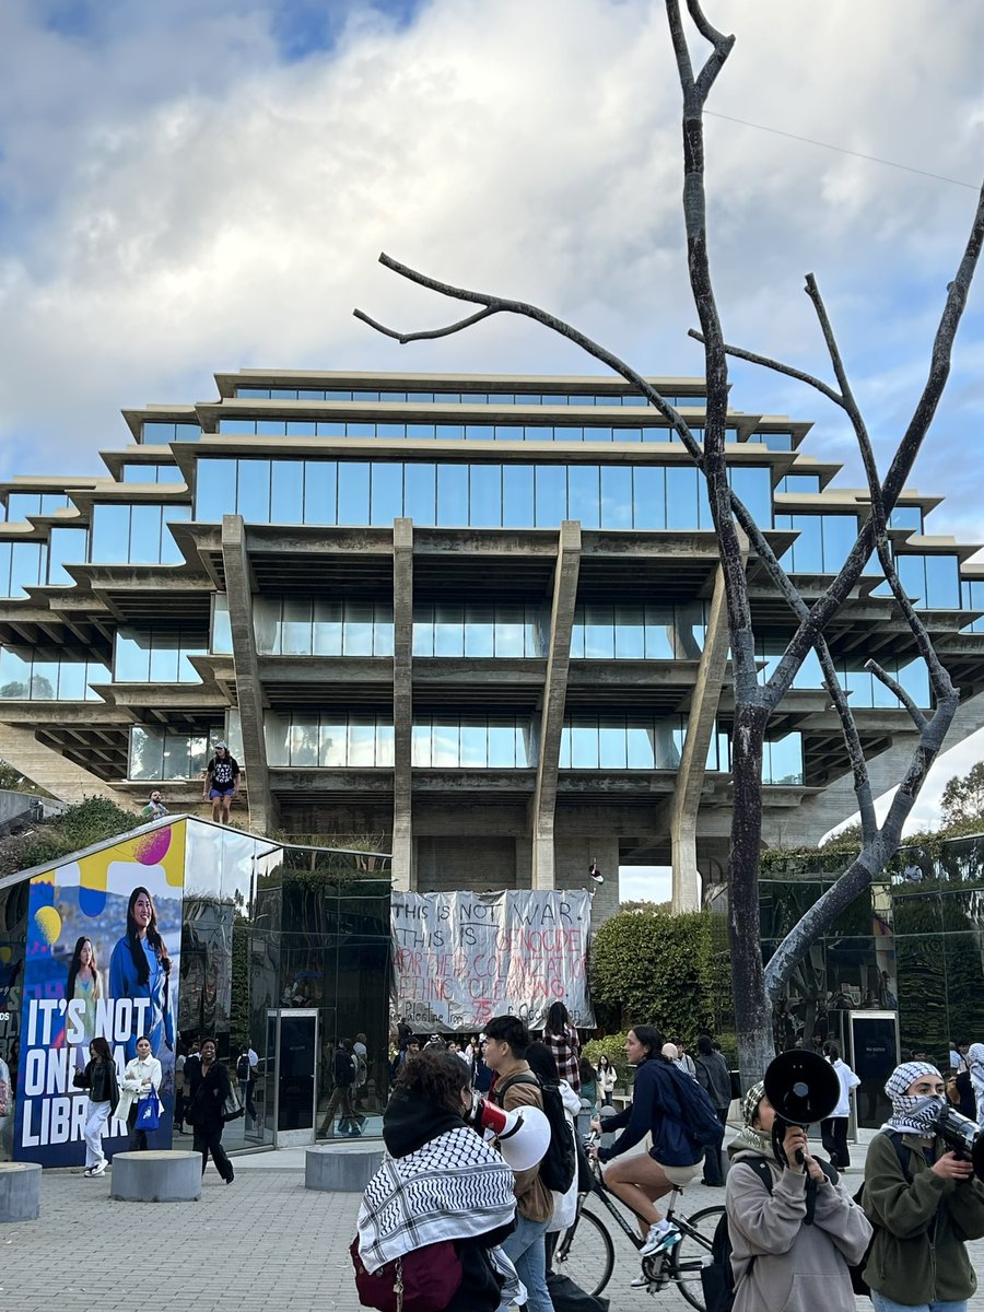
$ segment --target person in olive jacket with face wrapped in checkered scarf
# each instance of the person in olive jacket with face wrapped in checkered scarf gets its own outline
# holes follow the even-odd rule
[[[945,1084],[934,1065],[905,1061],[884,1092],[892,1115],[865,1162],[871,1302],[875,1312],[966,1312],[977,1287],[966,1241],[984,1236],[984,1185],[935,1135]]]

